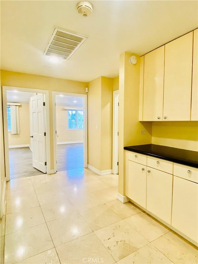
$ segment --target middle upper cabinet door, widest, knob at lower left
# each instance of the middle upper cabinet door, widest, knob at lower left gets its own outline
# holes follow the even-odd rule
[[[193,32],[165,45],[163,120],[191,118]]]

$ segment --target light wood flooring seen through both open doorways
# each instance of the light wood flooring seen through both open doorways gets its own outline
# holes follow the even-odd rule
[[[10,179],[44,174],[32,167],[29,148],[9,149]],[[83,168],[83,143],[57,145],[57,171]]]

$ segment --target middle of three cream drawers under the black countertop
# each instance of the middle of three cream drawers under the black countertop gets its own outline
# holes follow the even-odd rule
[[[168,160],[147,156],[147,166],[157,169],[159,171],[164,171],[169,174],[173,174],[173,162]]]

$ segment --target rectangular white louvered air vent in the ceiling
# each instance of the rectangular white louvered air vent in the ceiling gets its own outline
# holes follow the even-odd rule
[[[87,38],[86,36],[54,28],[44,55],[68,60]]]

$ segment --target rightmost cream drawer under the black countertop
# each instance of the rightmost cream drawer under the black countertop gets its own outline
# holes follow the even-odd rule
[[[198,183],[198,168],[174,163],[173,175]]]

